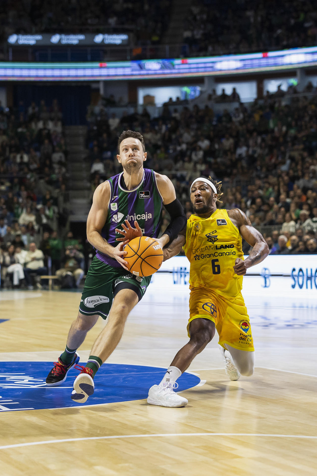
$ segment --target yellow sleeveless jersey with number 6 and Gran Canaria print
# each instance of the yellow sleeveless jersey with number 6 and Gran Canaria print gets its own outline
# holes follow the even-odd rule
[[[192,215],[183,249],[191,263],[191,289],[208,288],[228,297],[240,293],[242,276],[235,274],[233,266],[236,258],[243,259],[242,239],[227,210],[217,209],[209,218]]]

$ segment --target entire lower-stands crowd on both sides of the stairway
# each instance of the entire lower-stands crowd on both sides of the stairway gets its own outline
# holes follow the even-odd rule
[[[121,171],[116,147],[122,130],[137,130],[144,136],[146,166],[171,178],[187,217],[192,180],[210,176],[222,182],[219,206],[243,210],[271,254],[317,254],[317,94],[309,91],[286,98],[277,91],[239,103],[232,113],[215,114],[212,101],[192,109],[167,103],[156,118],[146,108],[121,118],[108,117],[103,106],[91,109],[91,197]],[[20,103],[18,109],[0,110],[2,287],[40,287],[38,277],[48,271],[63,287],[79,286],[87,250],[67,234],[67,150],[58,104],[47,108],[41,101],[26,109]],[[164,213],[162,233],[168,222]],[[250,252],[246,242],[243,251]]]

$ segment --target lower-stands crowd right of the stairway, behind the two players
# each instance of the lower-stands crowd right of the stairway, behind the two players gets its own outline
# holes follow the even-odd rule
[[[212,103],[192,109],[163,106],[151,119],[146,108],[119,119],[106,109],[89,116],[86,158],[91,192],[121,171],[116,156],[123,129],[144,136],[146,166],[167,174],[188,216],[189,185],[200,175],[222,181],[221,207],[240,208],[267,238],[270,253],[317,253],[317,95],[279,90],[215,115]],[[289,102],[289,104],[288,104]],[[164,217],[163,228],[168,224]],[[246,253],[250,246],[243,244]]]

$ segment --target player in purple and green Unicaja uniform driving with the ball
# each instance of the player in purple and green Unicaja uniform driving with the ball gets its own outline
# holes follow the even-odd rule
[[[143,297],[151,280],[151,276],[140,278],[129,273],[124,245],[129,239],[144,234],[156,238],[163,248],[186,225],[171,180],[143,168],[146,152],[139,132],[126,130],[121,134],[117,159],[123,172],[100,184],[94,193],[87,218],[87,239],[96,248],[96,255],[86,276],[78,316],[70,327],[66,348],[46,379],[51,387],[64,382],[69,369],[79,362],[77,348],[84,342],[87,332],[99,316],[108,318],[106,327],[96,338],[86,367],[76,366],[81,372],[74,382],[71,398],[79,403],[85,403],[94,393],[96,371],[115,350],[130,311]],[[172,219],[162,237],[157,238],[162,205]]]

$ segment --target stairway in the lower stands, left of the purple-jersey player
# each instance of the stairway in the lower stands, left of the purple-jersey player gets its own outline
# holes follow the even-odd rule
[[[66,126],[67,169],[70,175],[70,221],[85,221],[90,208],[90,164],[85,157],[86,126]]]

